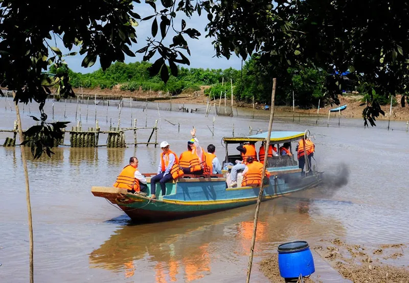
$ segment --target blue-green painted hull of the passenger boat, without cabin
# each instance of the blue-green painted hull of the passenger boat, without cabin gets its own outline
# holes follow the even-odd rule
[[[181,180],[167,184],[167,193],[161,197],[159,185],[157,200],[138,194],[118,193],[94,195],[117,204],[134,222],[161,222],[198,216],[217,211],[252,205],[257,202],[259,187],[226,188],[225,179]],[[318,185],[320,176],[301,178],[300,172],[271,176],[264,186],[263,199],[267,201]],[[150,186],[148,186],[150,187]],[[117,188],[115,188],[117,189]],[[118,189],[117,189],[118,190]]]

